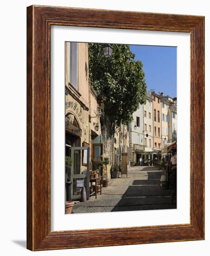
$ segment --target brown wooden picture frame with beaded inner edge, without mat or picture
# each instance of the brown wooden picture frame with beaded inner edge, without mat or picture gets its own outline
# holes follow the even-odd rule
[[[190,223],[51,231],[51,26],[190,33]],[[196,157],[199,152],[199,158]],[[115,239],[114,239],[115,238]],[[69,7],[27,8],[27,249],[70,249],[204,239],[204,17]]]

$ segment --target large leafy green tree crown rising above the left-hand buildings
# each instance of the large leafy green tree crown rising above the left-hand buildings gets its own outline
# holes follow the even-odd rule
[[[89,43],[89,78],[104,96],[104,118],[112,127],[128,124],[139,103],[145,103],[146,82],[141,61],[129,45],[113,45],[112,56],[103,55],[102,44]]]

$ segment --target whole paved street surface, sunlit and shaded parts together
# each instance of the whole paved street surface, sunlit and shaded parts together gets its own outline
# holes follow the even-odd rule
[[[91,196],[86,202],[77,202],[74,213],[174,209],[171,190],[160,186],[162,171],[154,167],[133,167],[128,177],[112,179],[102,195]]]

